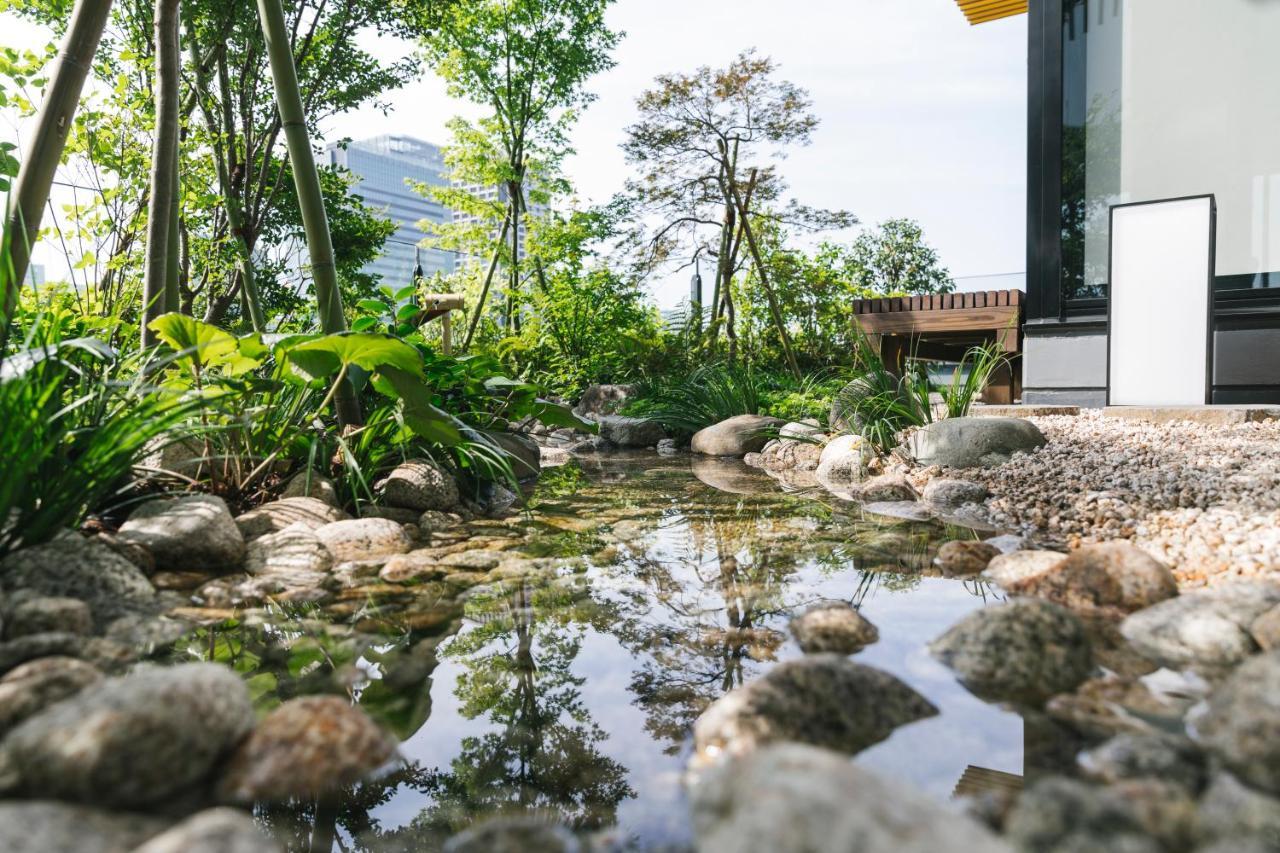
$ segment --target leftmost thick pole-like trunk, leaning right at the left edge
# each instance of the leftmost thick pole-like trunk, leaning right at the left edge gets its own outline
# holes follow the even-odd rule
[[[4,280],[0,296],[0,346],[4,345],[18,293],[27,278],[31,248],[40,233],[45,205],[49,204],[49,190],[63,159],[84,78],[93,64],[97,42],[110,14],[111,0],[77,0],[58,54],[58,65],[36,117],[36,132],[31,136],[9,196],[4,245],[0,247],[0,280]]]

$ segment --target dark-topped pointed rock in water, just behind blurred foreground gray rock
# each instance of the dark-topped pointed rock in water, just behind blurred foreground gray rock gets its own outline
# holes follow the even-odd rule
[[[795,740],[850,754],[938,710],[895,676],[837,654],[809,654],[714,702],[694,724],[695,762]]]

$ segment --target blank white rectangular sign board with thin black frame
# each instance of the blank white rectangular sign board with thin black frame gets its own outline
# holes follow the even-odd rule
[[[1107,402],[1210,402],[1212,196],[1111,209]]]

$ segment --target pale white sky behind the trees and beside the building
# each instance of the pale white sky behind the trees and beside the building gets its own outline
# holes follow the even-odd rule
[[[9,46],[42,44],[10,15],[0,20]],[[618,143],[635,97],[657,74],[721,67],[754,46],[809,90],[822,122],[813,145],[783,165],[795,197],[868,224],[918,219],[956,277],[1024,269],[1025,15],[970,27],[954,0],[618,0],[609,22],[627,35],[617,67],[593,81],[599,100],[567,163],[584,200],[622,187]],[[403,133],[445,142],[445,122],[472,111],[430,73],[389,100],[387,115],[366,109],[329,122],[326,140]],[[686,278],[655,282],[659,302],[684,296]]]

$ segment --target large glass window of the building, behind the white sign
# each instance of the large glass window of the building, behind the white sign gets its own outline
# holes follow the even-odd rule
[[[1280,288],[1280,0],[1064,0],[1062,291],[1106,295],[1108,207],[1213,193],[1220,291]]]

